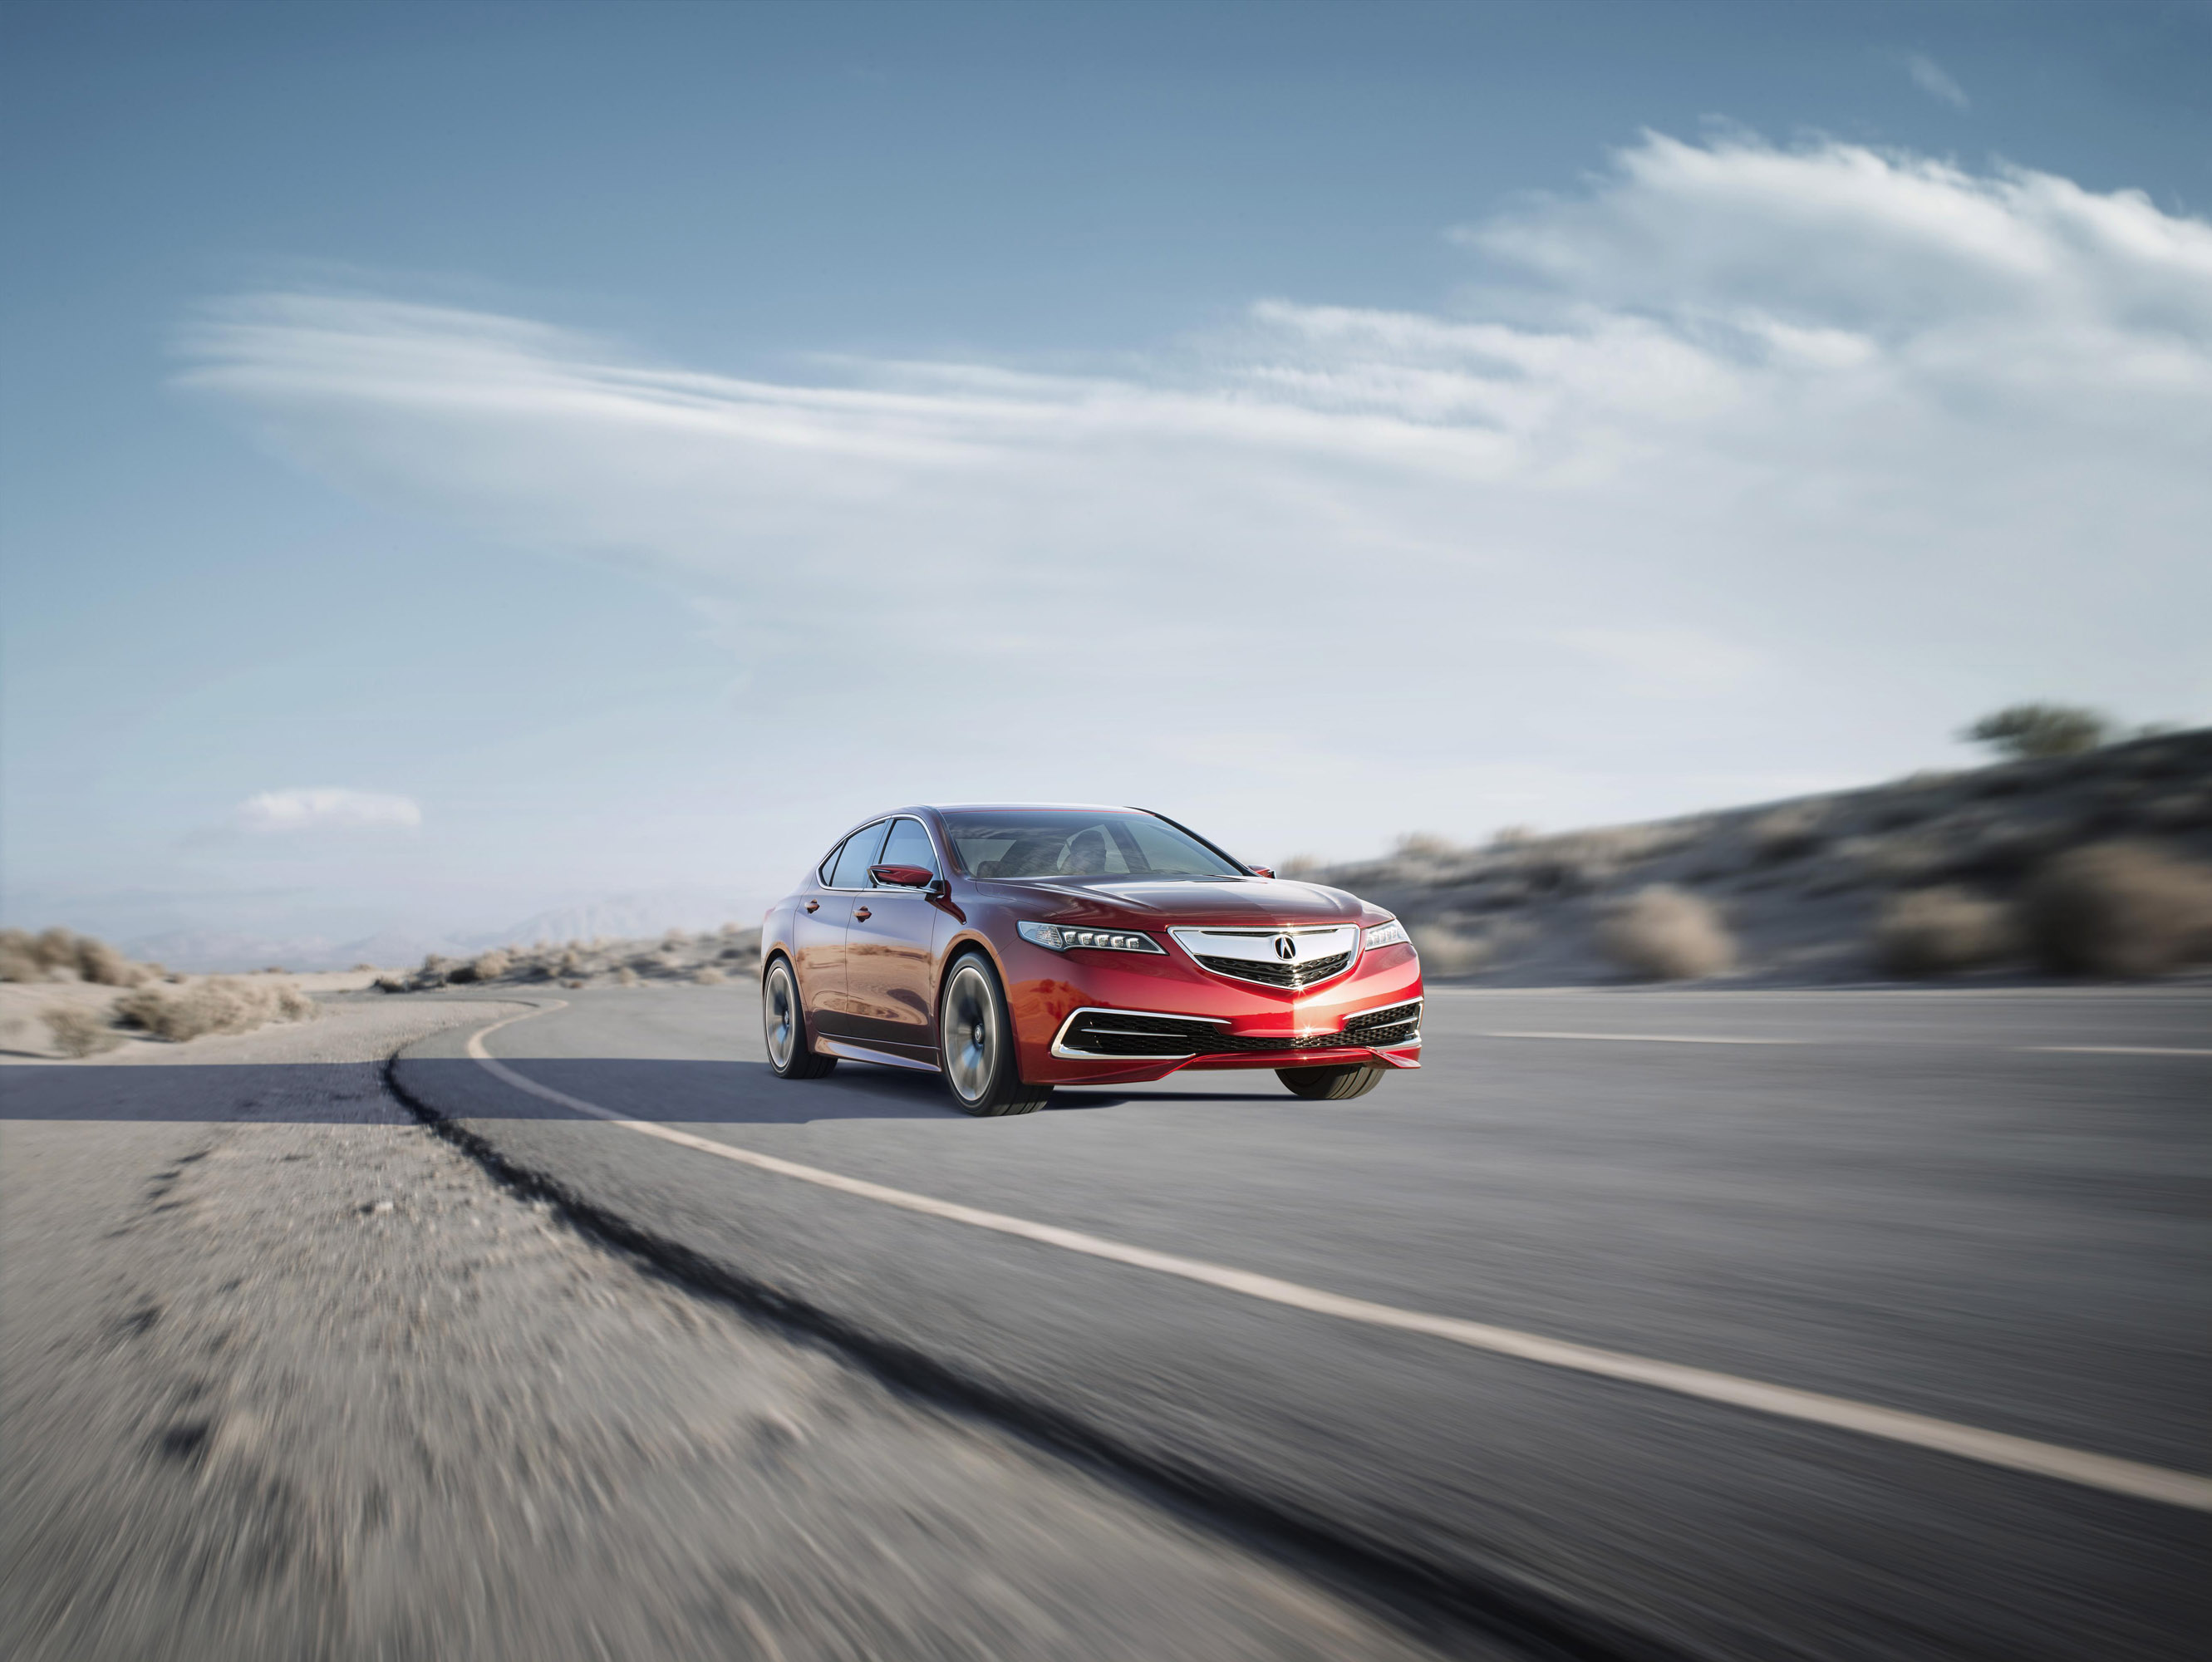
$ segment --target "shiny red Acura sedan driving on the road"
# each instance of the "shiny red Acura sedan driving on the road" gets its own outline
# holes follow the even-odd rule
[[[1389,912],[1141,808],[869,819],[770,907],[761,1007],[781,1078],[938,1071],[969,1113],[1217,1067],[1343,1100],[1420,1067],[1420,958]]]

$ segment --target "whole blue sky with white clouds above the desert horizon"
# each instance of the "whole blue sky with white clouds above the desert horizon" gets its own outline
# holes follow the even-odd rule
[[[7,11],[9,921],[2203,721],[2201,7]],[[2192,460],[2194,458],[2194,460]]]

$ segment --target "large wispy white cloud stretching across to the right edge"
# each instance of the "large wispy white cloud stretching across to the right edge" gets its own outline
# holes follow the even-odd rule
[[[184,378],[367,496],[672,584],[885,799],[1130,779],[1232,823],[1301,757],[1323,834],[1380,837],[1531,766],[1559,823],[2013,695],[2203,715],[2212,226],[1646,135],[1458,237],[1451,312],[1261,301],[1141,374],[741,378],[259,294]]]

